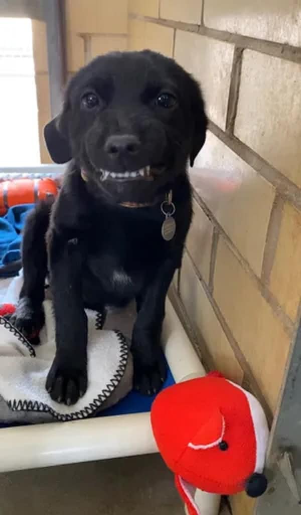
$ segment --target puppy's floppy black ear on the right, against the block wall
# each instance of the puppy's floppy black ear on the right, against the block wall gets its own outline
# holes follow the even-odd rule
[[[208,121],[199,85],[192,77],[190,77],[190,98],[193,122],[190,166],[193,166],[194,160],[205,142]]]

